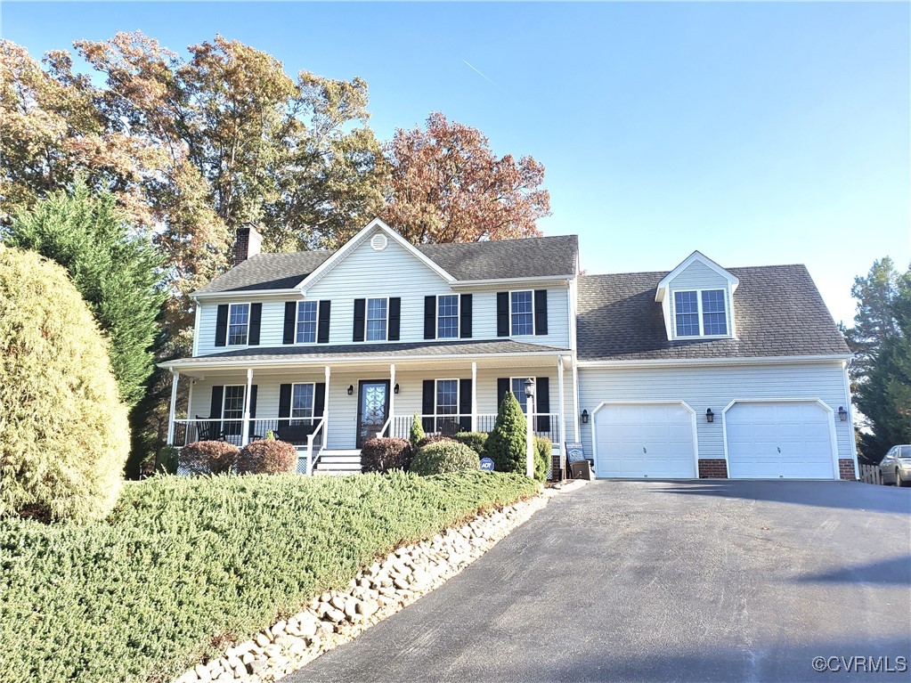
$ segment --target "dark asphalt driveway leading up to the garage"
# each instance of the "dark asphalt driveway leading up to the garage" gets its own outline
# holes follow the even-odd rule
[[[911,490],[599,481],[286,680],[911,680],[852,656],[911,663]]]

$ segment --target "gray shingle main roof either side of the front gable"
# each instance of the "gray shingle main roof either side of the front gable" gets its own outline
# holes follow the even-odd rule
[[[461,244],[418,245],[456,280],[496,280],[576,274],[575,235],[496,240]],[[335,251],[297,251],[290,254],[257,254],[207,285],[213,291],[284,290],[296,286]]]

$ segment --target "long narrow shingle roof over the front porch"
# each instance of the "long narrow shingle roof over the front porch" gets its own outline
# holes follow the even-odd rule
[[[409,356],[454,356],[484,355],[488,353],[540,353],[558,352],[555,346],[529,344],[503,340],[490,342],[485,340],[466,340],[464,342],[400,342],[382,344],[317,344],[315,346],[272,346],[250,347],[236,351],[211,353],[196,358],[181,359],[183,362],[219,363],[223,361],[319,361],[325,358],[354,356],[365,360],[371,358],[388,358],[392,355],[399,358]]]

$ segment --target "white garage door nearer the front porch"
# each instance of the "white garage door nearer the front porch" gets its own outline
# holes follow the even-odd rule
[[[681,403],[605,405],[595,413],[595,439],[598,476],[696,476],[692,415]]]

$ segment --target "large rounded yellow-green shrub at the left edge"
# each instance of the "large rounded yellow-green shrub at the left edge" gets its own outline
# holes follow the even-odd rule
[[[0,244],[0,515],[107,515],[128,449],[107,342],[67,271]]]

